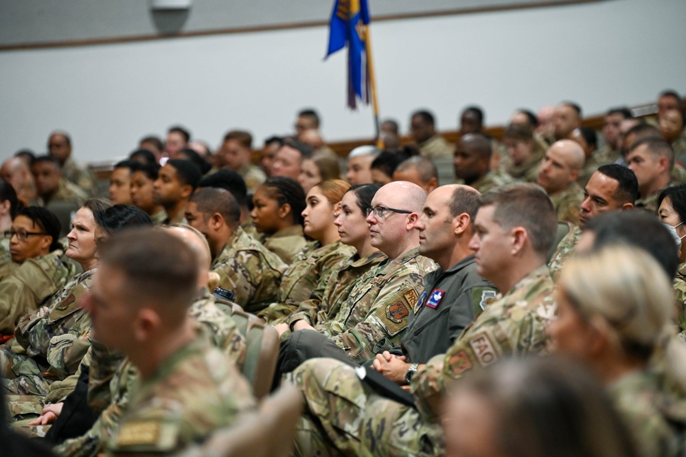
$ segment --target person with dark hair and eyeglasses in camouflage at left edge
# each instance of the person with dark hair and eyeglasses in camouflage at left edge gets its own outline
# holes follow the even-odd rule
[[[20,210],[5,232],[16,263],[12,274],[0,279],[0,334],[12,335],[19,318],[63,287],[75,270],[61,260],[60,221],[45,208]]]

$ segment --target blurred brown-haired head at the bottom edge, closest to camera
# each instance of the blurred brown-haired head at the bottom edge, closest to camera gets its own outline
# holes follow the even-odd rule
[[[446,457],[639,455],[599,379],[558,357],[470,372],[446,403]]]

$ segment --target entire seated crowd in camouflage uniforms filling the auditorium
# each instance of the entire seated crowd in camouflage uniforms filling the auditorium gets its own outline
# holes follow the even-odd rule
[[[260,381],[302,406],[279,455],[684,455],[686,131],[657,108],[495,139],[472,106],[455,144],[416,111],[345,161],[306,109],[259,165],[247,131],[174,126],[107,198],[52,133],[0,167],[3,447],[236,455],[264,328]]]

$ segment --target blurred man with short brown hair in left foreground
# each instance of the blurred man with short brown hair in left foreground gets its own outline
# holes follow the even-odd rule
[[[99,256],[84,299],[93,335],[126,355],[141,380],[108,455],[172,454],[253,407],[247,381],[188,314],[198,283],[190,247],[169,233],[129,230]]]

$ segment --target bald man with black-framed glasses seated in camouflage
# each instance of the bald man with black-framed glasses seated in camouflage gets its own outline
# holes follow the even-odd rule
[[[315,327],[290,323],[296,331],[282,342],[275,381],[312,357],[364,364],[400,343],[424,275],[435,269],[418,252],[415,227],[425,200],[426,192],[407,181],[388,183],[376,192],[367,224],[371,245],[388,258],[358,280],[332,320]]]

